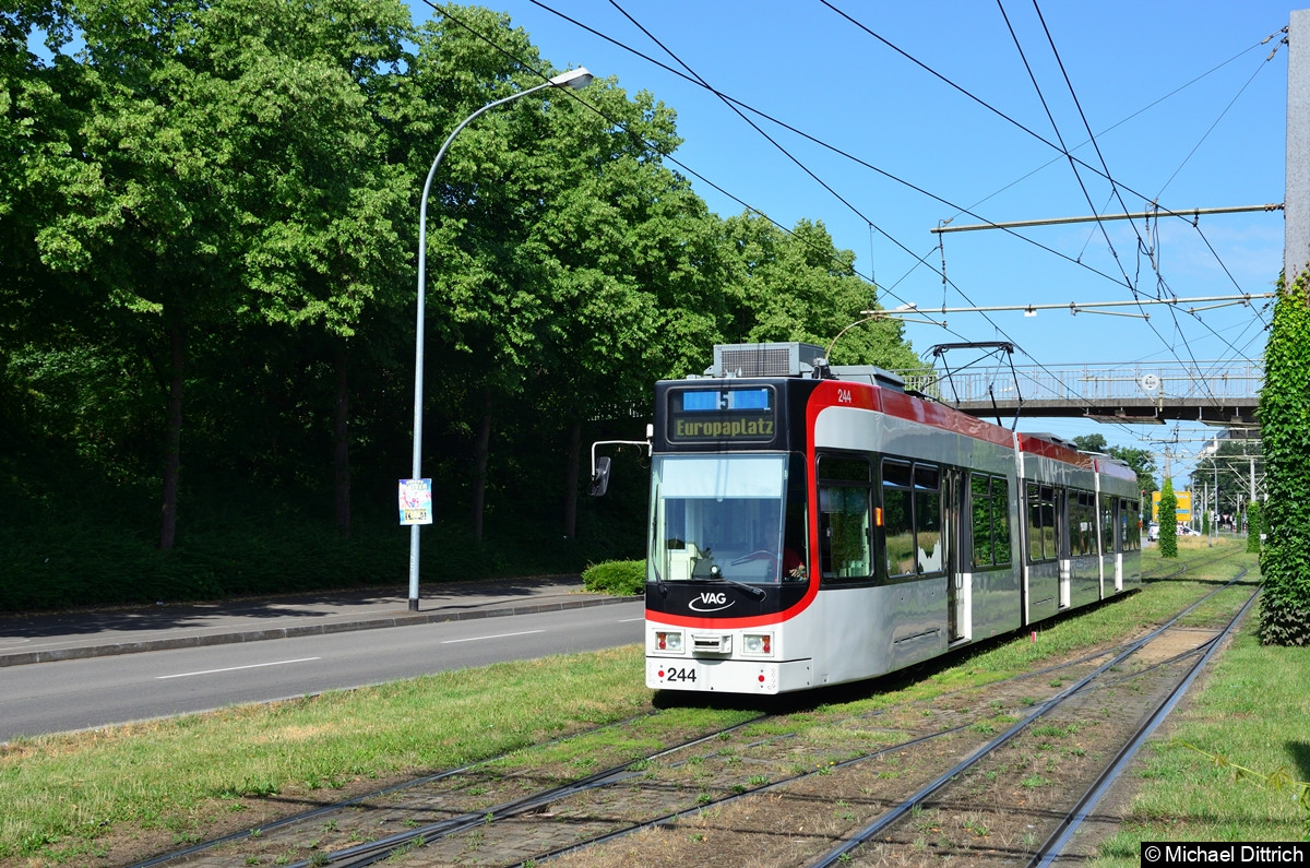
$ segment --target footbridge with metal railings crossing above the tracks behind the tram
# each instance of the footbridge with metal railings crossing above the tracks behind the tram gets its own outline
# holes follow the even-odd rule
[[[1255,425],[1264,383],[1262,359],[1184,365],[1123,362],[1043,365],[956,371],[893,371],[907,391],[921,392],[977,417],[1085,417],[1100,422]]]

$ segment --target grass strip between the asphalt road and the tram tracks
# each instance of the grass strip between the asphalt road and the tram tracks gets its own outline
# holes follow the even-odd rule
[[[113,840],[242,827],[249,800],[417,775],[650,708],[631,645],[0,745],[0,860],[83,864]],[[22,861],[17,861],[22,860]],[[30,860],[30,861],[29,861]]]

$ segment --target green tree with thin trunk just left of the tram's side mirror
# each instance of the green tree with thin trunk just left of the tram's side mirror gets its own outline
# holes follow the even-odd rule
[[[548,315],[525,396],[561,424],[566,536],[587,418],[597,408],[631,418],[654,380],[698,370],[726,309],[718,220],[663,164],[680,142],[672,113],[609,81],[586,97],[600,114],[561,114],[554,135],[542,131],[548,152],[572,157],[553,157],[561,165],[544,173],[541,211],[519,245]]]

